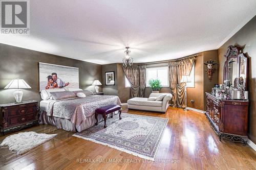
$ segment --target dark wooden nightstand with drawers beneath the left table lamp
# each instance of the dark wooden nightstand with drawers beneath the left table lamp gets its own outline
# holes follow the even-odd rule
[[[23,103],[9,103],[0,105],[1,133],[20,130],[39,124],[38,102],[26,101]]]

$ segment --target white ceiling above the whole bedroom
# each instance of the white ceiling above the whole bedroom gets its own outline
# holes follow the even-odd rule
[[[31,0],[30,35],[0,43],[89,61],[175,59],[220,47],[256,14],[255,0]]]

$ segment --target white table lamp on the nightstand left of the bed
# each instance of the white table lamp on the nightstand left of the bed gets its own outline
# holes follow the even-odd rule
[[[20,89],[31,88],[23,79],[13,79],[4,89],[16,89],[13,92],[16,103],[22,103],[23,92]]]

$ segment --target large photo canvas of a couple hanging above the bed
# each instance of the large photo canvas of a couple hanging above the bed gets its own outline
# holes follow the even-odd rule
[[[39,63],[39,90],[79,88],[79,68]]]

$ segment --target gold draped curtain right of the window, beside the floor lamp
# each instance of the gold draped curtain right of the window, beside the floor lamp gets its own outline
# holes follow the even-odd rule
[[[195,57],[187,57],[176,61],[170,61],[169,66],[169,87],[172,91],[172,106],[185,108],[185,83],[181,83],[182,75],[189,75]]]

